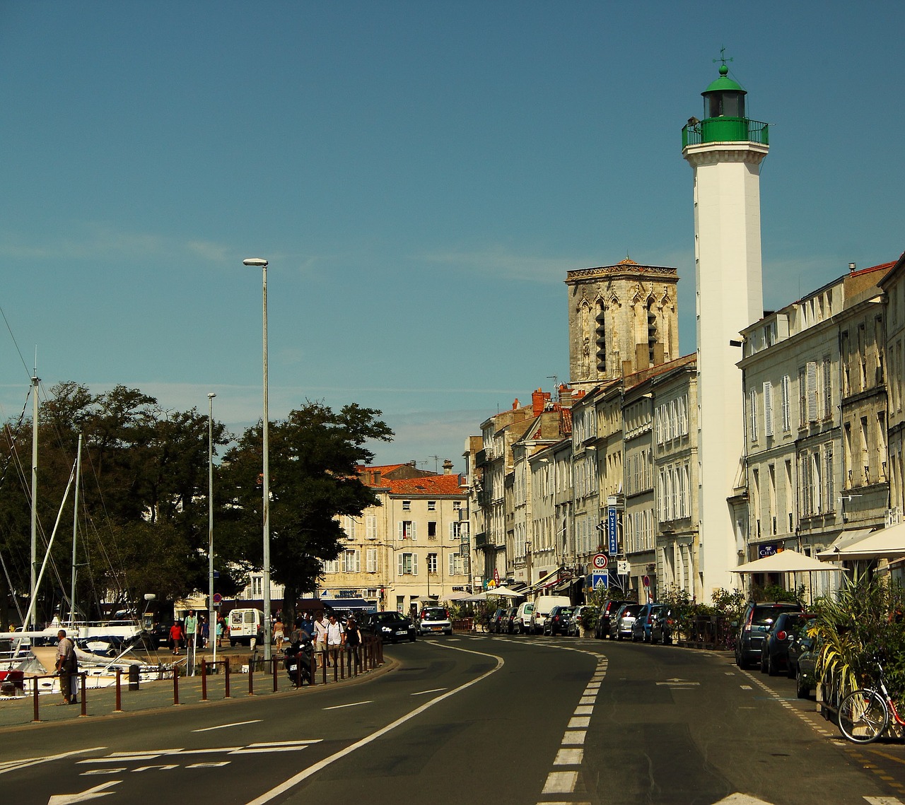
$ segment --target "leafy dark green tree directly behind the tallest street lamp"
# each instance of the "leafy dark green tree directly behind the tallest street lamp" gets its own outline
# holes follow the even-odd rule
[[[360,516],[379,501],[358,478],[357,466],[374,454],[371,440],[393,435],[379,411],[357,404],[334,412],[307,402],[268,431],[270,455],[271,579],[285,586],[284,609],[294,612],[300,592],[313,589],[323,562],[336,559],[343,536],[337,516]],[[233,494],[220,533],[233,559],[262,566],[262,426],[243,433],[224,459],[225,489]]]

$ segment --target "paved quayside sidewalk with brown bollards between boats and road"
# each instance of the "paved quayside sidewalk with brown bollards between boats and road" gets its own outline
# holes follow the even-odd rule
[[[244,660],[244,661],[243,661]],[[233,662],[235,663],[233,665]],[[324,685],[324,668],[318,668],[317,677],[313,686],[304,685],[296,688],[292,685],[286,671],[282,668],[281,658],[277,662],[276,692],[273,690],[273,675],[271,672],[263,673],[255,670],[251,677],[241,673],[243,665],[247,665],[247,650],[243,655],[230,656],[232,670],[229,674],[230,699],[247,699],[252,694],[249,692],[251,682],[253,696],[275,696],[307,694],[309,691],[319,690],[322,687],[335,687],[337,685],[349,685],[367,681],[381,676],[386,671],[395,667],[390,658],[384,658],[382,664],[367,671],[361,671],[357,675],[349,676],[347,668],[327,668],[327,685]],[[238,668],[238,671],[236,670]],[[342,672],[345,671],[345,678]],[[82,716],[81,695],[76,705],[62,704],[62,696],[59,693],[45,693],[38,696],[38,718],[40,724],[60,723],[75,721],[81,717],[113,716],[151,711],[175,705],[176,690],[172,677],[142,682],[138,690],[129,690],[129,677],[123,675],[120,679],[120,710],[116,709],[116,687],[90,687],[94,680],[87,679],[87,694],[84,701],[86,715]],[[195,677],[179,677],[178,702],[180,706],[201,704],[204,682],[199,675]],[[226,675],[208,674],[206,678],[206,694],[208,702],[224,701],[226,699]],[[0,699],[0,732],[7,728],[17,728],[24,725],[36,725],[34,721],[34,696],[26,696],[15,699]]]

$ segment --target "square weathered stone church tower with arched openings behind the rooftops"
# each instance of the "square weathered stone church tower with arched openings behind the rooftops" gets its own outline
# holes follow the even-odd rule
[[[568,271],[568,362],[574,388],[593,388],[679,357],[675,269],[614,266]]]

